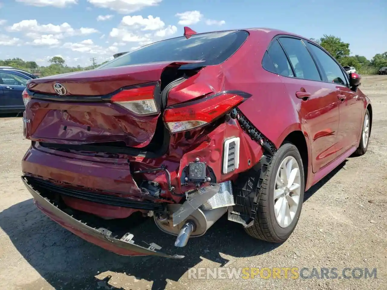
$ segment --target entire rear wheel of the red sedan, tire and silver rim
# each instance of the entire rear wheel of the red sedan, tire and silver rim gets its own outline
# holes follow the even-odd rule
[[[300,217],[305,177],[300,152],[292,143],[283,144],[272,162],[257,193],[259,207],[247,234],[268,242],[284,242]]]

